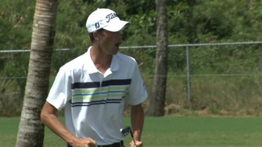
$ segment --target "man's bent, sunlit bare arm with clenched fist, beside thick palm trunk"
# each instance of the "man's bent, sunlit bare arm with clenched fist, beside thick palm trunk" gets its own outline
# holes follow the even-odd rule
[[[55,115],[56,112],[57,108],[46,101],[41,111],[41,121],[49,127],[50,130],[73,147],[97,147],[96,141],[92,138],[77,138],[68,129],[66,129],[59,119],[57,119],[57,116]]]

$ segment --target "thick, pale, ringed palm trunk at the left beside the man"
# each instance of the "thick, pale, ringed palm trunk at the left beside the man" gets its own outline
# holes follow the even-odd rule
[[[16,147],[43,146],[44,125],[40,113],[48,95],[57,6],[58,0],[36,1],[29,69]]]

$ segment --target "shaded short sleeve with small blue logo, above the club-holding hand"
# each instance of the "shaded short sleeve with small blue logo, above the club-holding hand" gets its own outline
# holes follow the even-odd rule
[[[147,99],[147,89],[140,75],[137,63],[134,67],[129,92],[127,94],[127,103],[130,105],[138,105]]]

